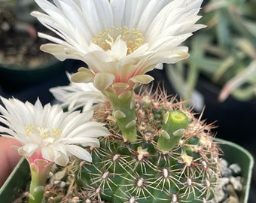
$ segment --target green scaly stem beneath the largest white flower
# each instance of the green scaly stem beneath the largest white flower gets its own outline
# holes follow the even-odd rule
[[[108,92],[108,98],[113,108],[113,116],[122,132],[123,141],[136,141],[136,111],[133,91],[123,92],[120,95]]]

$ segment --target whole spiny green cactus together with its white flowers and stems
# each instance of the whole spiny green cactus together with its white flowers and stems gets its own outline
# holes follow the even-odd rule
[[[202,1],[35,2],[47,14],[32,15],[62,38],[39,34],[54,42],[41,50],[61,60],[80,59],[90,68],[79,68],[69,86],[50,89],[60,105],[2,98],[0,121],[6,126],[0,130],[20,141],[16,148],[26,158],[20,165],[31,173],[25,198],[214,201],[223,141],[214,139],[212,125],[160,88],[142,86],[136,92],[154,80],[146,73],[157,64],[187,58],[187,47],[180,44],[203,28],[196,24]],[[248,189],[253,161],[247,152],[243,157]],[[6,198],[10,193],[4,189]],[[242,192],[241,201],[247,197]]]

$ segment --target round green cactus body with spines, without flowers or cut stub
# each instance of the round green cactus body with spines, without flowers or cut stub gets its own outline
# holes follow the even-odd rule
[[[96,112],[96,119],[108,123],[113,134],[101,139],[101,147],[91,149],[92,163],[78,163],[77,182],[87,191],[88,202],[206,202],[214,197],[218,147],[209,126],[180,103],[155,98],[137,96],[138,138],[132,144],[118,134],[109,105]],[[166,127],[164,114],[169,111],[182,114],[185,124]],[[169,128],[184,130],[171,150],[160,150],[160,134],[163,129],[173,134]]]

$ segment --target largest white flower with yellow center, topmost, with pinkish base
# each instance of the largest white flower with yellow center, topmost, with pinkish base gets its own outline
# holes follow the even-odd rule
[[[81,68],[72,80],[93,82],[99,90],[109,86],[120,92],[138,83],[159,63],[175,63],[188,57],[180,46],[203,25],[198,12],[203,0],[35,0],[46,12],[32,16],[59,35],[39,33],[54,44],[41,50],[59,60],[80,59]]]

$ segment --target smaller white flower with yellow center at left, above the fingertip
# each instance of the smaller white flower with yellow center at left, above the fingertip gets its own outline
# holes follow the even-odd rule
[[[0,135],[17,139],[16,147],[29,162],[44,159],[58,165],[66,165],[69,156],[91,162],[90,153],[83,147],[99,147],[97,137],[109,135],[104,124],[91,121],[93,111],[63,112],[59,105],[44,107],[39,99],[32,105],[15,98],[1,98]],[[80,144],[78,146],[77,144]]]

